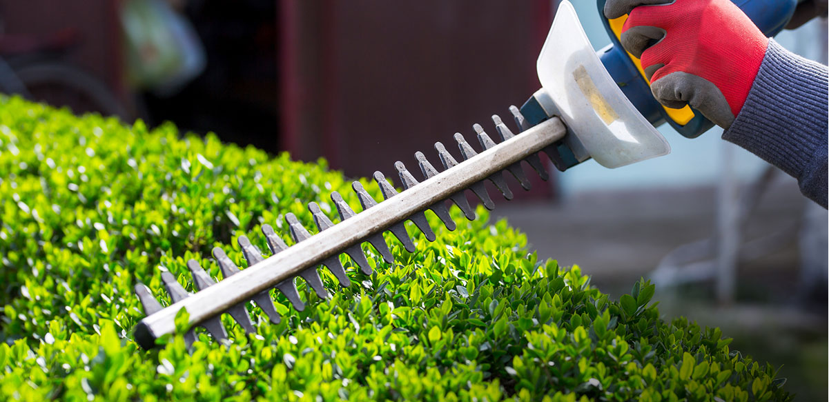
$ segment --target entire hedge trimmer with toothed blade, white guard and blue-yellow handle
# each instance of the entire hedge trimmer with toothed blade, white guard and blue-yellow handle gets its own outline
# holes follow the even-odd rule
[[[742,8],[752,16],[752,7],[773,1],[749,0]],[[788,4],[778,2],[778,5],[783,3]],[[599,9],[602,7],[604,0],[599,0]],[[788,12],[790,16],[790,11],[778,10],[778,13],[787,15]],[[155,346],[159,337],[175,332],[175,319],[182,308],[187,308],[189,326],[201,325],[216,339],[227,338],[220,319],[225,312],[246,332],[255,332],[247,311],[249,301],[259,306],[271,322],[279,323],[279,313],[269,296],[271,288],[284,293],[293,307],[302,311],[304,303],[294,282],[297,277],[302,277],[320,298],[327,298],[328,290],[317,270],[320,265],[325,265],[340,285],[349,286],[351,282],[340,254],[347,254],[363,273],[371,274],[371,265],[361,249],[363,243],[369,243],[385,262],[391,264],[394,259],[382,236],[384,231],[395,235],[407,251],[414,252],[414,242],[406,232],[405,220],[414,223],[426,240],[433,241],[434,231],[429,227],[424,211],[433,211],[448,230],[454,230],[455,222],[449,216],[446,201],[458,206],[467,219],[475,219],[465,191],[471,190],[483,206],[491,210],[494,203],[483,182],[492,182],[510,200],[512,192],[504,172],[515,177],[525,190],[530,189],[521,161],[527,162],[542,179],[548,178],[540,153],[545,153],[560,171],[589,158],[604,167],[621,167],[670,152],[667,142],[654,128],[664,121],[670,122],[686,137],[696,137],[710,128],[710,122],[691,109],[679,113],[657,104],[641,69],[638,69],[637,60],[618,45],[621,23],[610,21],[606,27],[612,33],[615,46],[608,46],[597,54],[590,46],[573,6],[567,0],[560,3],[537,62],[542,88],[521,109],[510,107],[517,125],[516,133],[497,115],[492,116],[501,140],[499,143],[478,124],[473,128],[482,147],[480,153],[462,134],[454,136],[461,162],[442,143],[435,143],[434,148],[444,167],[442,172],[424,153],[415,153],[424,177],[422,182],[402,162],[396,162],[395,169],[405,189],[399,193],[381,172],[375,172],[374,179],[385,198],[379,203],[360,182],[354,182],[352,188],[362,206],[360,213],[352,211],[342,196],[333,192],[331,199],[340,216],[336,225],[317,203],[312,202],[308,210],[317,225],[315,235],[308,232],[296,216],[288,213],[284,218],[296,242],[291,247],[285,245],[273,227],[262,225],[271,256],[264,258],[247,237],[240,236],[238,242],[248,264],[246,269],[240,270],[217,247],[213,249],[213,257],[224,277],[218,283],[191,259],[187,267],[198,289],[196,293],[188,293],[171,273],[162,272],[162,282],[173,302],[166,308],[153,298],[149,288],[142,283],[136,284],[135,291],[148,317],[135,327],[135,340],[144,348]],[[777,25],[769,29],[777,29]],[[185,341],[195,341],[192,331],[187,332]]]

